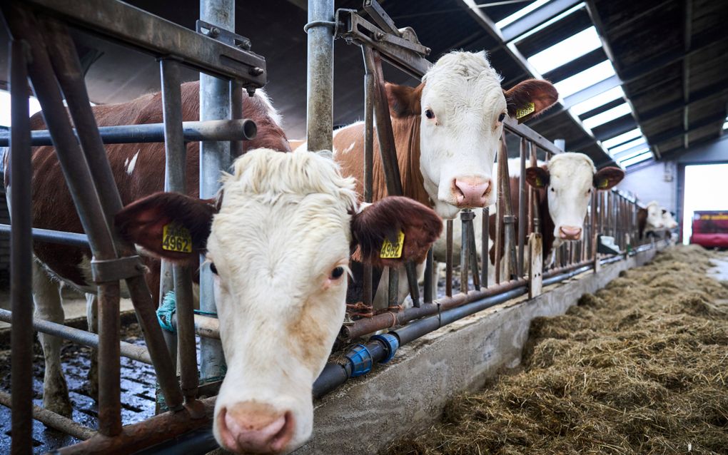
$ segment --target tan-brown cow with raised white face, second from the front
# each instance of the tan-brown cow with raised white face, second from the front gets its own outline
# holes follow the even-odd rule
[[[552,84],[528,79],[509,90],[485,52],[454,51],[443,55],[417,87],[386,84],[397,162],[403,194],[433,207],[451,219],[462,208],[486,207],[495,202],[492,170],[506,116],[526,120],[558,100]],[[306,144],[300,148],[305,148]],[[364,124],[336,130],[334,158],[344,175],[357,179],[363,195]],[[374,154],[379,144],[374,143]],[[374,160],[373,200],[387,194],[381,160]],[[422,266],[420,271],[424,271]],[[388,273],[379,283],[377,303],[383,304]],[[400,274],[402,302],[406,278]],[[404,285],[402,283],[405,283]]]

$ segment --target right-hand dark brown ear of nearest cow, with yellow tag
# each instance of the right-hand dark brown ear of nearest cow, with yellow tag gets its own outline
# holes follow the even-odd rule
[[[353,258],[376,267],[422,262],[442,230],[443,221],[430,207],[385,197],[352,216]]]

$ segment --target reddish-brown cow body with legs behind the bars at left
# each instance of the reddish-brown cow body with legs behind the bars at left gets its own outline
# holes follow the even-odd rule
[[[199,119],[199,82],[182,84],[183,121]],[[143,95],[127,103],[93,106],[99,126],[117,124],[147,124],[162,122],[162,95]],[[256,95],[243,97],[245,116],[253,119],[258,135],[243,143],[243,149],[266,147],[290,151],[285,133],[280,127],[280,116],[274,110],[263,90]],[[41,112],[31,117],[31,128],[45,128]],[[106,146],[109,164],[119,188],[122,202],[128,204],[140,197],[164,189],[165,149],[163,143],[127,143]],[[4,184],[9,201],[12,182],[9,181],[7,154],[5,154]],[[36,147],[32,151],[33,162],[33,227],[66,232],[83,232],[76,214],[71,193],[66,187],[60,163],[52,146]],[[188,194],[199,194],[199,143],[187,144],[186,185]],[[36,317],[63,324],[64,314],[58,292],[58,282],[87,293],[88,322],[96,331],[96,292],[91,275],[91,251],[69,245],[34,242],[33,254],[33,302]],[[154,296],[159,298],[159,261],[145,259],[150,273],[146,281]],[[63,416],[71,416],[71,400],[63,371],[60,368],[60,339],[39,333],[45,357],[43,404],[45,408]],[[96,363],[92,356],[89,372],[91,394],[95,395]]]

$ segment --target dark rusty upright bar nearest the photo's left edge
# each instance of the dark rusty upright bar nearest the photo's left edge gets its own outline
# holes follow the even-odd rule
[[[28,43],[10,41],[10,115],[12,116],[12,143],[10,144],[10,306],[12,331],[10,333],[10,387],[12,396],[13,455],[30,454],[33,448],[31,422],[33,405],[33,332],[28,330],[33,319],[33,225],[31,208],[30,122],[28,121]]]

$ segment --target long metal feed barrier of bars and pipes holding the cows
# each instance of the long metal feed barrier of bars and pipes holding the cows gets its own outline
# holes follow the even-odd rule
[[[166,189],[184,192],[186,141],[203,141],[200,157],[202,167],[201,197],[210,197],[217,190],[216,181],[221,169],[229,166],[230,156],[241,153],[242,139],[255,134],[254,125],[242,119],[239,101],[241,90],[261,87],[266,82],[265,61],[248,52],[250,41],[226,32],[234,23],[221,23],[222,11],[232,11],[229,0],[204,1],[202,11],[207,15],[199,31],[186,30],[178,25],[149,15],[114,0],[93,0],[68,7],[61,0],[29,0],[4,4],[2,12],[12,34],[11,92],[12,130],[10,133],[12,159],[12,226],[1,226],[0,232],[12,234],[12,312],[0,312],[0,320],[11,322],[12,331],[12,397],[0,394],[0,403],[12,402],[12,453],[31,453],[31,418],[50,427],[85,439],[83,443],[60,449],[62,454],[86,451],[128,453],[130,451],[204,452],[214,448],[210,435],[210,417],[214,397],[223,371],[219,346],[218,321],[213,317],[194,314],[191,303],[191,274],[189,269],[168,264],[162,268],[160,296],[175,289],[177,309],[171,324],[177,335],[164,334],[157,323],[149,289],[142,277],[133,245],[114,236],[111,216],[120,208],[119,194],[111,177],[103,143],[165,141],[167,154]],[[389,194],[401,194],[400,170],[389,118],[389,106],[384,92],[381,60],[416,77],[422,77],[432,63],[430,53],[416,40],[414,31],[397,29],[386,12],[373,0],[363,4],[374,23],[354,10],[334,12],[333,0],[309,0],[308,135],[312,150],[332,148],[333,130],[333,39],[340,38],[359,45],[365,64],[365,154],[364,200],[372,199],[373,132],[379,132],[381,162]],[[218,15],[215,15],[215,12]],[[65,25],[90,29],[108,39],[120,41],[151,53],[160,60],[164,100],[164,124],[96,127],[83,84],[82,72],[73,43]],[[376,25],[375,25],[376,23]],[[42,25],[42,27],[40,26]],[[154,37],[140,31],[156,29]],[[206,33],[205,33],[206,32]],[[213,39],[218,36],[218,39]],[[223,40],[223,41],[220,41]],[[175,43],[186,43],[178,48]],[[50,52],[46,52],[46,47]],[[202,80],[202,122],[181,122],[180,80],[178,66],[186,65],[210,74]],[[27,71],[27,73],[26,73]],[[27,77],[44,110],[47,132],[30,132],[27,111]],[[219,78],[219,79],[218,79]],[[58,84],[57,84],[58,81]],[[58,85],[68,101],[68,110],[76,130],[71,128],[63,107]],[[232,104],[232,111],[226,107]],[[221,107],[223,106],[223,107]],[[217,120],[210,120],[210,119]],[[220,120],[229,118],[229,120]],[[598,271],[601,264],[620,260],[641,248],[636,233],[636,201],[619,191],[593,194],[585,223],[584,240],[571,242],[558,249],[550,269],[541,270],[542,243],[539,241],[539,219],[534,205],[537,195],[520,178],[518,194],[510,194],[508,185],[507,147],[509,138],[519,147],[519,165],[524,175],[526,162],[535,165],[537,157],[548,159],[561,152],[529,127],[507,120],[498,153],[499,192],[496,216],[496,259],[492,265],[496,276],[488,286],[488,225],[489,211],[483,209],[482,232],[473,228],[473,212],[461,215],[462,239],[459,269],[459,292],[454,293],[453,223],[446,223],[447,261],[446,290],[437,297],[433,279],[432,252],[427,256],[422,297],[416,281],[414,264],[408,264],[407,277],[414,307],[405,311],[387,311],[373,317],[349,321],[341,329],[341,339],[352,340],[373,331],[389,328],[387,336],[375,336],[365,342],[364,349],[347,354],[347,363],[326,365],[314,384],[314,396],[321,397],[338,387],[349,377],[366,373],[371,365],[384,362],[394,355],[397,346],[435,331],[438,328],[488,308],[510,298],[529,293],[536,296],[543,285],[552,284],[587,270]],[[52,140],[63,165],[64,175],[86,234],[32,229],[30,147],[48,144]],[[0,138],[0,145],[3,145]],[[207,141],[207,142],[205,142]],[[213,142],[215,141],[215,142]],[[228,143],[226,141],[234,141]],[[80,147],[79,147],[80,143]],[[212,149],[212,150],[210,150]],[[204,187],[204,188],[203,188]],[[89,197],[94,195],[95,197]],[[518,198],[518,213],[513,213],[511,201]],[[516,220],[525,220],[518,223]],[[598,234],[614,237],[619,245],[617,256],[599,253]],[[480,235],[486,250],[478,259],[475,235]],[[94,278],[98,283],[100,300],[99,333],[68,328],[47,321],[33,320],[31,283],[31,247],[33,238],[45,242],[90,246],[94,256]],[[503,245],[501,245],[501,242]],[[501,246],[503,248],[501,248]],[[499,252],[505,251],[503,255]],[[529,254],[526,254],[529,251]],[[528,258],[531,258],[529,261]],[[533,264],[531,266],[530,264]],[[215,312],[207,270],[202,269],[201,306]],[[364,271],[362,304],[371,307],[371,269]],[[389,301],[397,300],[397,274],[390,274]],[[119,341],[119,280],[126,280],[132,301],[143,326],[147,348]],[[470,282],[472,281],[472,285]],[[32,406],[31,349],[32,331],[70,339],[80,344],[98,347],[100,361],[99,430],[87,427]],[[195,357],[195,335],[201,337],[203,382],[198,381]],[[165,343],[166,337],[166,343]],[[179,352],[180,365],[175,365]],[[157,371],[159,390],[170,411],[139,424],[122,427],[120,414],[119,356],[151,363]],[[180,379],[175,371],[179,371]],[[164,432],[160,432],[160,429]],[[171,440],[171,442],[170,442]],[[167,442],[165,442],[167,441]],[[162,443],[160,446],[159,444]],[[170,448],[171,444],[176,444]]]

